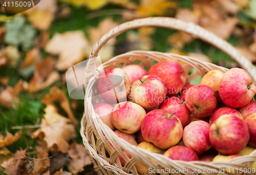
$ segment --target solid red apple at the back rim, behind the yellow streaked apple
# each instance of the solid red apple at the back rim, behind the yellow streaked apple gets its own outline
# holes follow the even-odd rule
[[[165,60],[154,64],[148,75],[158,76],[164,81],[168,96],[179,94],[186,82],[185,70],[176,60]]]

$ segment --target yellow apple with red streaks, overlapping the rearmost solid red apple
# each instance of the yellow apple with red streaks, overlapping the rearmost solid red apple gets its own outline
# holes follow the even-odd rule
[[[131,98],[145,110],[153,110],[164,101],[165,97],[165,84],[157,76],[145,75],[133,82]]]

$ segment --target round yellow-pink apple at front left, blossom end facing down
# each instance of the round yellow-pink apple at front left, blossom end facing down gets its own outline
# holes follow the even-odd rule
[[[112,110],[111,121],[123,133],[134,134],[140,130],[146,112],[140,105],[125,101],[116,104]]]

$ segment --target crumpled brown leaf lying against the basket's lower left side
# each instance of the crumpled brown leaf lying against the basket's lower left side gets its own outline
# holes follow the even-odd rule
[[[68,150],[68,154],[71,158],[69,168],[73,173],[81,172],[84,170],[84,166],[92,164],[87,150],[82,144],[73,143]]]

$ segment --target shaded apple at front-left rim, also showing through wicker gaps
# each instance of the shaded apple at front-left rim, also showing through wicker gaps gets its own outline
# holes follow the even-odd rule
[[[126,142],[129,142],[129,143],[132,144],[132,145],[135,145],[135,146],[138,145],[138,143],[137,143],[136,140],[135,140],[135,135],[134,135],[134,134],[126,134],[126,133],[121,132],[121,131],[118,130],[118,129],[114,130],[114,133],[115,133],[120,139],[123,139],[123,140],[125,140]],[[109,144],[112,146],[112,144],[111,144],[110,142],[109,142]],[[117,144],[117,145],[120,147],[119,144]],[[104,146],[105,146],[105,145],[104,145]],[[112,146],[112,148],[115,150],[115,148],[114,148],[113,146]],[[105,149],[106,149],[107,152],[109,152],[109,155],[112,154],[111,149],[109,149],[109,148],[106,147],[106,146],[105,146]],[[123,152],[124,152],[124,154],[125,154],[127,157],[129,157],[129,158],[131,159],[131,155],[129,154],[129,152],[127,152],[126,150],[123,151]],[[122,157],[121,155],[119,155],[118,158],[119,158],[119,160],[120,160],[121,165],[124,166],[125,163],[126,163],[126,161],[123,159],[123,157]]]

